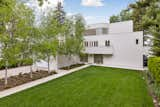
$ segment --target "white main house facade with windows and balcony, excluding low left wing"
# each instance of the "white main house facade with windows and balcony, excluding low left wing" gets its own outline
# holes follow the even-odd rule
[[[84,36],[88,63],[143,70],[143,32],[133,32],[132,21],[90,26],[88,29],[97,31],[106,26],[108,34],[96,32],[95,35]],[[106,45],[107,41],[109,45]]]

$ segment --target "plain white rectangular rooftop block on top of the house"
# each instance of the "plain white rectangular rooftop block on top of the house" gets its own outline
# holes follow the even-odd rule
[[[124,21],[109,24],[109,34],[133,32],[133,21]]]

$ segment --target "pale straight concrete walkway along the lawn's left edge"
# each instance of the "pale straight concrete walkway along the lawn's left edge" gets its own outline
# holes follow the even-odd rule
[[[89,66],[90,65],[84,65],[84,66],[77,67],[77,68],[74,68],[74,69],[71,69],[71,70],[68,70],[68,71],[59,70],[58,74],[51,75],[51,76],[48,76],[48,77],[45,77],[45,78],[42,78],[42,79],[39,79],[39,80],[35,80],[35,81],[29,82],[29,83],[25,83],[23,85],[20,85],[20,86],[14,87],[14,88],[10,88],[10,89],[4,90],[4,91],[0,91],[0,98],[9,96],[11,94],[14,94],[14,93],[17,93],[17,92],[20,92],[20,91],[23,91],[23,90],[26,90],[28,88],[37,86],[39,84],[46,83],[46,82],[51,81],[53,79],[62,77],[64,75],[70,74],[72,72],[78,71],[80,69],[83,69],[83,68],[86,68],[86,67],[89,67]]]

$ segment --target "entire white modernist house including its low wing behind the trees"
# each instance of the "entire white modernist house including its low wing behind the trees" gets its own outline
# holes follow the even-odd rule
[[[133,31],[133,22],[99,23],[89,25],[84,35],[84,56],[57,56],[51,69],[76,63],[143,70],[143,32]],[[42,63],[41,63],[42,64]],[[47,65],[47,64],[45,64]]]

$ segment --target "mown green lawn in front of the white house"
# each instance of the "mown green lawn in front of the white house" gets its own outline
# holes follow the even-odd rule
[[[89,67],[0,99],[0,107],[153,107],[132,70]]]

